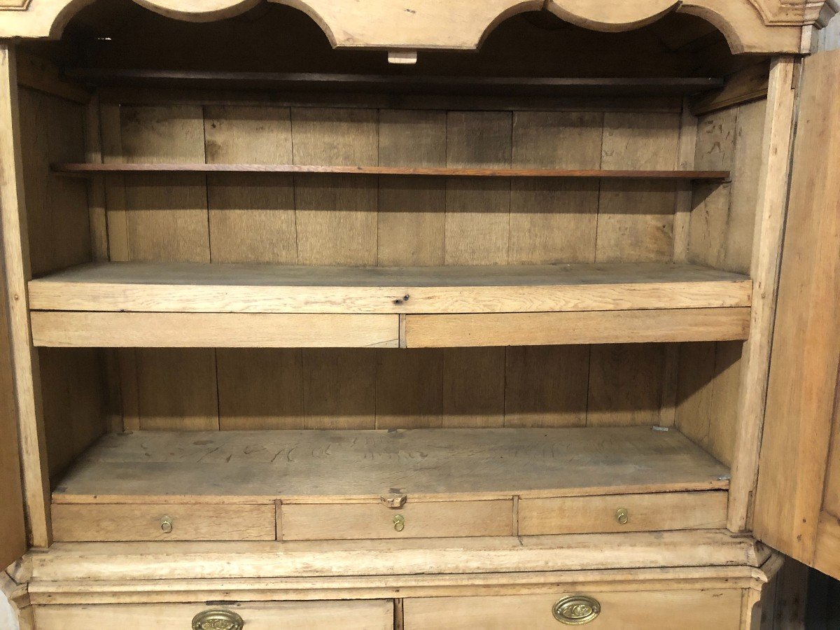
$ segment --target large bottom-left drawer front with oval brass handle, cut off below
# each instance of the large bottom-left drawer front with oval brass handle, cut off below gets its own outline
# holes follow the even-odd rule
[[[92,628],[161,628],[191,630],[199,614],[234,613],[242,630],[391,630],[393,603],[386,601],[281,601],[231,606],[205,604],[126,604],[109,606],[37,606],[38,630],[91,630]],[[231,617],[205,627],[233,630]],[[238,620],[237,620],[238,621]]]

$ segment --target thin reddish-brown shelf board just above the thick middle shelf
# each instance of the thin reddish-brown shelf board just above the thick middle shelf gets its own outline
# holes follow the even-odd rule
[[[573,171],[564,169],[410,168],[401,166],[321,166],[291,164],[54,164],[68,175],[94,173],[312,173],[432,177],[565,177],[601,179],[726,180],[729,171]]]

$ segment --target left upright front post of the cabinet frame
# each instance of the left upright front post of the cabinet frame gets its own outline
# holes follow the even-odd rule
[[[23,468],[29,542],[50,545],[50,480],[40,391],[38,355],[29,333],[27,287],[29,239],[21,165],[16,56],[12,45],[0,44],[0,208],[3,222],[3,263],[8,292],[9,325],[14,366],[14,395]]]

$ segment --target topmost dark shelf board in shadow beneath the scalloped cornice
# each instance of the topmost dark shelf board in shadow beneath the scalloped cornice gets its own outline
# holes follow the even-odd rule
[[[75,68],[67,76],[96,86],[270,88],[297,92],[375,92],[502,96],[666,96],[723,87],[711,76],[423,76]]]

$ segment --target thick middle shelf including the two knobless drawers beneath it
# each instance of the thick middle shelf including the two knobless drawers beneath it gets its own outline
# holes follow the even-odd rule
[[[94,263],[29,282],[50,347],[381,347],[746,339],[752,281],[698,265]]]

